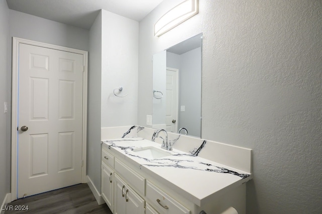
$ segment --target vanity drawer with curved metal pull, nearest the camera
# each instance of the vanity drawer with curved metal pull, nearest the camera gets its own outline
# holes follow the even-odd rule
[[[149,181],[146,181],[146,197],[151,200],[151,204],[153,204],[154,208],[160,213],[190,213],[186,207]]]

